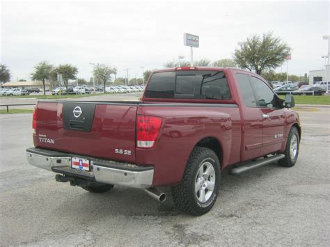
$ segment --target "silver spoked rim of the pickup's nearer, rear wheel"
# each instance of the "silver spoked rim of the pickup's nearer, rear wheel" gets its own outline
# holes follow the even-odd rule
[[[215,171],[210,162],[203,163],[196,174],[195,194],[199,202],[207,202],[215,187]]]

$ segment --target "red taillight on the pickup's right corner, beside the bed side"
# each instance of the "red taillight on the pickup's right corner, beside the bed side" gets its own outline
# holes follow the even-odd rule
[[[138,115],[136,122],[137,147],[152,148],[157,141],[161,126],[162,118],[148,115]]]

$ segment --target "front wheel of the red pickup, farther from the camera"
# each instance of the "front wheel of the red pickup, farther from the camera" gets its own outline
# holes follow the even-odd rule
[[[278,164],[284,167],[292,167],[296,164],[299,154],[299,132],[296,127],[290,129],[288,141],[286,143],[285,158],[280,159]]]

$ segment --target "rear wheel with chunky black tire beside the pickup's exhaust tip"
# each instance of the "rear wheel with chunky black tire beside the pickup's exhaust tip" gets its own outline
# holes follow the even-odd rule
[[[209,148],[194,148],[180,184],[171,189],[175,206],[184,213],[200,216],[210,211],[219,193],[220,164]]]

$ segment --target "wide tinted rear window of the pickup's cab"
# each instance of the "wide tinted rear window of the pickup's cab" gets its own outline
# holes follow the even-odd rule
[[[145,97],[229,100],[231,93],[224,72],[191,70],[152,74]]]

